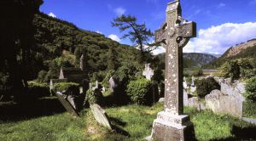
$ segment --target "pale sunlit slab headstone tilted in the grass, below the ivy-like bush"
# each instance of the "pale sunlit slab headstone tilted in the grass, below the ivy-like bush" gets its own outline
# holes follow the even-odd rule
[[[98,123],[100,123],[103,127],[108,127],[108,129],[112,130],[112,126],[109,121],[108,115],[100,105],[92,104],[90,105],[90,109]]]

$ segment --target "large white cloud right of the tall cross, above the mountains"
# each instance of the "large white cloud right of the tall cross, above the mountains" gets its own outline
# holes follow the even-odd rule
[[[256,37],[256,22],[244,24],[226,23],[199,31],[199,36],[192,39],[183,48],[186,53],[224,54],[237,43],[246,42]]]

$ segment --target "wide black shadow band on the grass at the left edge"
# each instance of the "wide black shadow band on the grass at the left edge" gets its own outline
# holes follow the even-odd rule
[[[30,99],[22,103],[0,103],[0,121],[24,121],[40,116],[52,116],[65,112],[60,101],[55,97]]]

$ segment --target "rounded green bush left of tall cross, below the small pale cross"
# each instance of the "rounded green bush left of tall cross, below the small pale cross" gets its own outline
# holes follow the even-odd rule
[[[136,104],[152,104],[154,100],[158,99],[157,88],[154,88],[154,83],[147,79],[138,79],[131,81],[127,86],[127,95],[130,97],[132,103]]]

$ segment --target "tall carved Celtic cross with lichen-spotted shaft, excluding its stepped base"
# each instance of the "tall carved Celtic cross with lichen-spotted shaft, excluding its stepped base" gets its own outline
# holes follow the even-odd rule
[[[179,0],[168,3],[166,22],[155,31],[155,42],[166,48],[165,111],[183,114],[183,47],[196,37],[195,22],[182,18]]]

